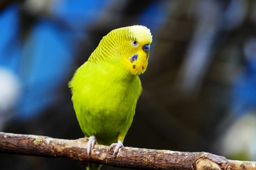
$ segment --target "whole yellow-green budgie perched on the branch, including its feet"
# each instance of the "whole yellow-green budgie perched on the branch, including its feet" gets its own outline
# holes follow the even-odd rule
[[[95,143],[110,145],[114,156],[132,124],[152,41],[145,26],[117,28],[105,35],[69,86],[87,153]]]

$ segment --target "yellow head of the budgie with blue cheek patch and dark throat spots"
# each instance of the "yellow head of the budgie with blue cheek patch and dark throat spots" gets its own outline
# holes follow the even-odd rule
[[[152,35],[145,26],[117,28],[102,38],[88,61],[122,64],[130,74],[141,74],[146,71],[151,42]]]

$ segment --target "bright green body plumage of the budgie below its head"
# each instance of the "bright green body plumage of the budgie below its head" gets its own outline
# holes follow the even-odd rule
[[[138,76],[108,62],[85,62],[72,84],[73,105],[85,137],[95,135],[99,144],[110,145],[126,135],[142,91]]]

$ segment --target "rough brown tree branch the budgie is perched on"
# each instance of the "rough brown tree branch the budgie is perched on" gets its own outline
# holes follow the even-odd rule
[[[61,140],[0,132],[0,152],[4,153],[62,157],[82,164],[91,162],[134,169],[256,169],[256,162],[228,160],[207,152],[174,152],[122,147],[117,157],[113,157],[113,152],[104,145],[95,145],[90,157],[87,156],[86,151],[87,138]]]

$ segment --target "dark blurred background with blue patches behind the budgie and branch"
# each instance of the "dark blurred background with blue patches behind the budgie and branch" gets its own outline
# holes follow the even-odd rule
[[[253,0],[1,0],[0,131],[83,137],[68,81],[102,36],[135,24],[150,28],[153,43],[124,145],[255,161]],[[13,154],[0,164],[85,169]]]

